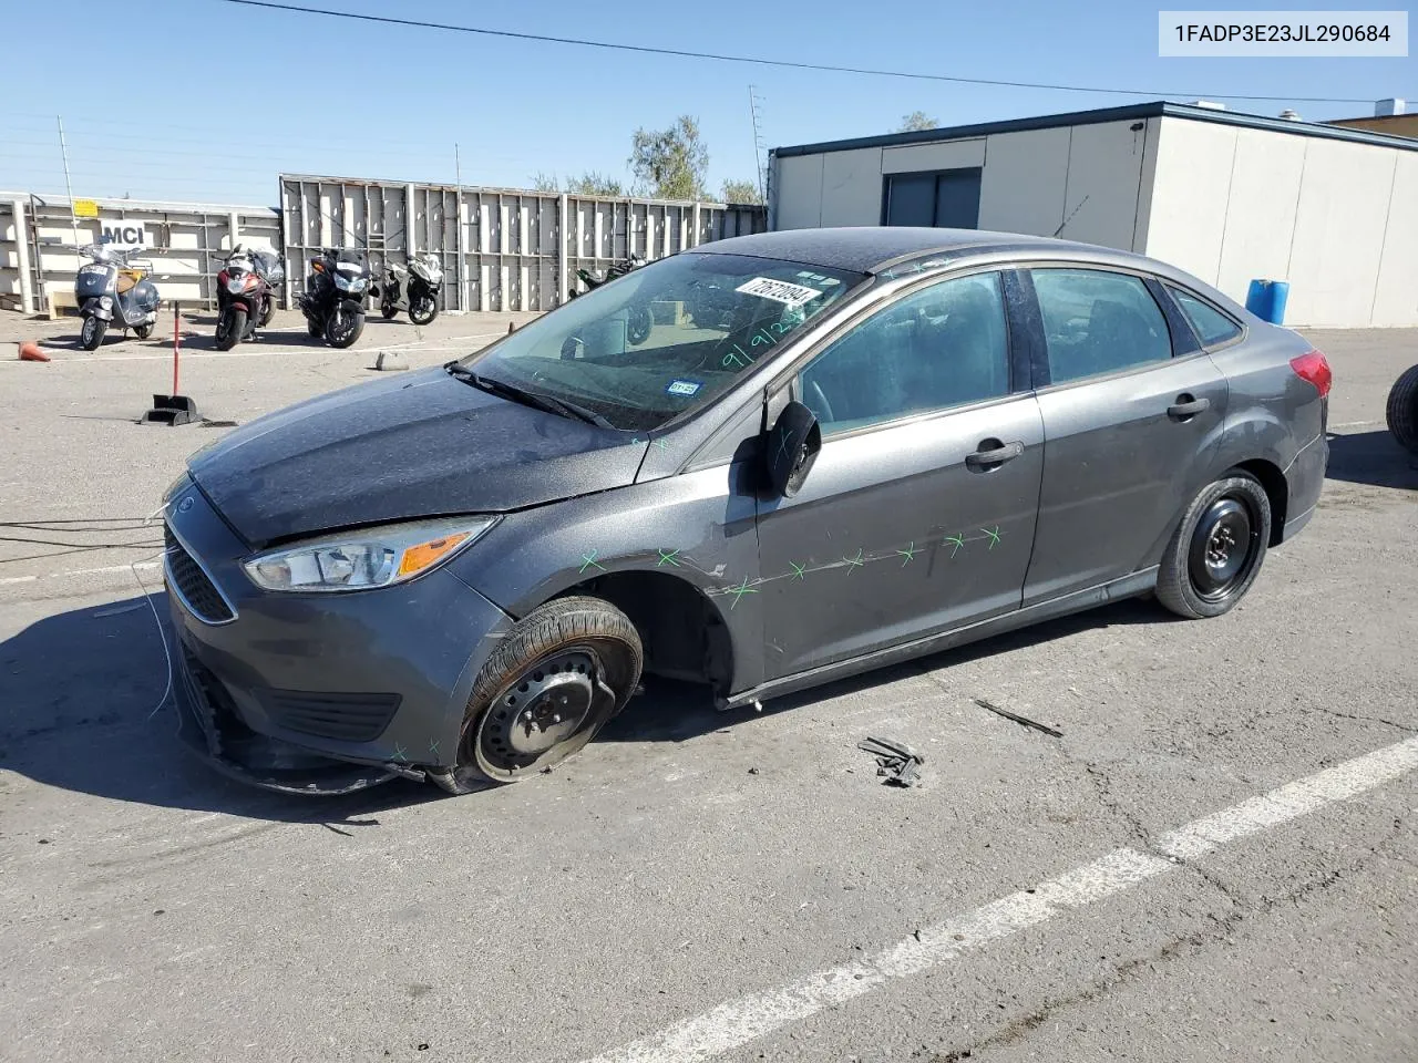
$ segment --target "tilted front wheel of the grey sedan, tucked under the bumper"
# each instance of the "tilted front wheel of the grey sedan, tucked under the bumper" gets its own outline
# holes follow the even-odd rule
[[[546,602],[484,665],[464,713],[458,767],[435,781],[467,794],[559,764],[625,707],[642,666],[635,625],[610,602]]]

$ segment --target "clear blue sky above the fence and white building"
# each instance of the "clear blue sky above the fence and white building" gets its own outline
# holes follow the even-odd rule
[[[302,0],[291,0],[302,3]],[[651,0],[309,0],[367,14],[834,65],[1139,89],[986,88],[732,62],[254,10],[221,0],[69,0],[6,14],[0,189],[62,193],[64,116],[77,196],[272,203],[281,170],[526,187],[537,171],[628,177],[637,126],[696,115],[709,183],[754,173],[749,85],[769,146],[1231,94],[1418,96],[1414,58],[1157,57],[1157,6],[1103,0],[679,6]],[[1170,4],[1176,7],[1177,4]],[[1381,4],[1368,4],[1378,7]],[[1249,4],[1256,9],[1263,6]],[[1324,4],[1361,9],[1356,4]],[[33,47],[14,47],[16,37]],[[1286,103],[1234,103],[1275,115]],[[1293,103],[1306,119],[1370,103]]]

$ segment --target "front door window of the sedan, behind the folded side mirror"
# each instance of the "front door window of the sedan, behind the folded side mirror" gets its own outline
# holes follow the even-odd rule
[[[798,394],[822,432],[1010,394],[998,274],[942,281],[898,299],[813,359]]]

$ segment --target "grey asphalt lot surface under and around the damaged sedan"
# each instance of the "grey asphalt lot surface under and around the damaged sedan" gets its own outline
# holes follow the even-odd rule
[[[525,319],[231,354],[187,322],[206,420],[155,428],[170,334],[0,316],[54,354],[0,361],[0,1059],[1418,1060],[1418,469],[1383,425],[1418,334],[1313,333],[1324,497],[1224,618],[1122,602],[761,713],[652,685],[468,798],[191,763],[143,523],[184,456]]]

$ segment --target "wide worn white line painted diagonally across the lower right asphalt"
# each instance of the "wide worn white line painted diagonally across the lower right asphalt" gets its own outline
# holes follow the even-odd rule
[[[1054,916],[1082,909],[1167,872],[1217,846],[1268,831],[1327,805],[1364,794],[1418,768],[1418,737],[1356,757],[1173,831],[1159,846],[1167,856],[1116,849],[1106,856],[1012,893],[947,923],[923,928],[873,957],[818,971],[776,992],[754,994],[668,1026],[587,1063],[678,1063],[708,1060],[790,1023],[946,964]]]

